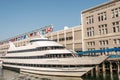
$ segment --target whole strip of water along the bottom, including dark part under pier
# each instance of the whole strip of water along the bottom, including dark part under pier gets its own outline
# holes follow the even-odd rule
[[[83,77],[57,77],[35,74],[20,74],[10,70],[0,69],[0,80],[120,80],[120,74],[99,73]]]

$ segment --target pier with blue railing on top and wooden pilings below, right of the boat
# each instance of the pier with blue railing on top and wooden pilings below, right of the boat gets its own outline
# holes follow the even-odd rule
[[[85,75],[93,75],[94,73],[96,76],[98,73],[110,73],[113,74],[120,74],[120,48],[109,48],[104,50],[91,50],[91,51],[84,51],[78,52],[79,55],[83,56],[97,56],[97,55],[107,55],[109,56],[101,64],[97,65],[93,70],[89,71]]]

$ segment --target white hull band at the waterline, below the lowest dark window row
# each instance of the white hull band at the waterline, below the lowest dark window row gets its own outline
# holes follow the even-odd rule
[[[93,67],[79,67],[79,68],[34,68],[4,65],[4,69],[18,71],[20,73],[32,73],[49,76],[66,76],[66,77],[81,77]]]

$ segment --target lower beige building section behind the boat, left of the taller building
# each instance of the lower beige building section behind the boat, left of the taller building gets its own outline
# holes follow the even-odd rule
[[[45,35],[47,38],[52,39],[67,49],[74,51],[82,51],[82,31],[81,25],[73,28],[52,32]]]

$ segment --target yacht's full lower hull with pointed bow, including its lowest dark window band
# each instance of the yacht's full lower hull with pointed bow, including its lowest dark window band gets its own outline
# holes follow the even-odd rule
[[[33,74],[42,74],[42,75],[55,75],[55,76],[75,76],[80,77],[93,69],[95,65],[103,62],[107,57],[79,57],[79,58],[63,58],[63,59],[23,59],[23,60],[4,60],[3,66],[12,67],[20,69],[20,73],[27,72]],[[91,61],[90,61],[91,60]],[[5,63],[7,62],[7,63]],[[13,64],[14,62],[15,64]],[[12,64],[11,64],[12,63]],[[20,64],[21,63],[21,64]],[[31,65],[26,65],[31,63]],[[34,63],[34,64],[33,64]],[[36,64],[47,64],[45,67],[38,66]],[[53,66],[50,66],[50,65]],[[54,66],[57,65],[57,66]],[[59,67],[59,65],[80,65],[74,67]],[[50,67],[49,67],[50,66]]]

